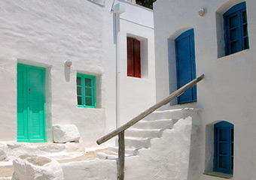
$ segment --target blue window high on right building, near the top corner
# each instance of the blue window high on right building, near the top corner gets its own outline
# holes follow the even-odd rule
[[[249,48],[246,4],[241,2],[223,15],[226,55]]]

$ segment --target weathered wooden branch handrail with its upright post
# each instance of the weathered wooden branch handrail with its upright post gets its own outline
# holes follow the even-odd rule
[[[200,77],[197,77],[196,79],[190,81],[190,83],[187,83],[186,85],[182,86],[180,89],[173,92],[168,97],[164,98],[159,103],[155,104],[154,106],[148,108],[148,110],[145,110],[143,113],[137,115],[132,120],[128,121],[126,124],[123,124],[122,126],[118,127],[116,130],[113,130],[112,132],[108,133],[105,136],[102,136],[97,140],[97,144],[100,145],[103,142],[108,141],[109,139],[113,138],[114,136],[118,135],[118,162],[117,162],[117,179],[123,180],[124,178],[124,154],[125,154],[125,148],[124,148],[124,130],[128,129],[129,127],[136,124],[138,121],[142,120],[142,118],[145,118],[147,115],[153,113],[158,108],[162,107],[163,105],[168,104],[171,102],[174,98],[177,98],[181,94],[183,94],[187,89],[190,89],[197,85],[197,83],[200,82],[200,80],[203,80],[204,75],[201,75]]]

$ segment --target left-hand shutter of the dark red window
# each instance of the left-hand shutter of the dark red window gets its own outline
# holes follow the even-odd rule
[[[127,37],[127,76],[134,77],[133,38]]]

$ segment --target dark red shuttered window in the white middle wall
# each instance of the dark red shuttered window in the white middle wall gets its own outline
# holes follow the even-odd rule
[[[140,41],[127,37],[127,76],[141,77],[141,49]]]

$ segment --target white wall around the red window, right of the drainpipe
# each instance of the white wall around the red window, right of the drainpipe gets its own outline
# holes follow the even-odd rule
[[[117,46],[117,125],[120,126],[155,104],[154,69],[154,22],[152,10],[130,2],[120,1],[126,6],[118,21],[120,31]],[[127,77],[126,37],[141,41],[142,77]]]

